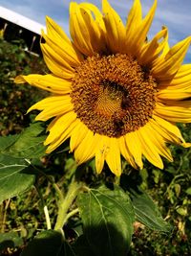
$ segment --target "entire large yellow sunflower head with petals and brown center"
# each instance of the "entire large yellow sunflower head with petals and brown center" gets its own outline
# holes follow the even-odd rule
[[[47,153],[70,138],[77,164],[96,159],[99,174],[106,161],[121,174],[121,155],[134,167],[142,158],[163,168],[173,161],[166,144],[189,147],[176,123],[191,121],[191,64],[182,64],[191,36],[172,48],[166,27],[151,40],[147,33],[157,0],[143,18],[135,0],[126,24],[102,0],[102,12],[90,3],[71,3],[70,39],[47,17],[41,49],[51,73],[19,76],[51,92],[28,110],[47,121]]]

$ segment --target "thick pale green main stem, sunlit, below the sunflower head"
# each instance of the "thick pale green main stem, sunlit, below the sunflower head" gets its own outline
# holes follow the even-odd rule
[[[66,221],[69,219],[68,215],[70,216],[70,214],[68,214],[68,211],[74,201],[74,198],[76,198],[82,187],[83,184],[81,182],[77,182],[76,180],[71,182],[65,198],[58,202],[58,214],[54,230],[62,229]]]

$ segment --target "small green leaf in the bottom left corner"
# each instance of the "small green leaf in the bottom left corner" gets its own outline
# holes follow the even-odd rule
[[[0,252],[8,247],[13,248],[22,244],[23,240],[16,232],[0,234]]]

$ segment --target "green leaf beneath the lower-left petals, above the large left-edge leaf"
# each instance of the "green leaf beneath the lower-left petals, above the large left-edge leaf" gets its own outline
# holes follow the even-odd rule
[[[10,147],[4,149],[6,154],[19,158],[39,158],[45,155],[46,147],[43,142],[45,135],[40,135],[44,130],[41,123],[33,123],[16,138]]]

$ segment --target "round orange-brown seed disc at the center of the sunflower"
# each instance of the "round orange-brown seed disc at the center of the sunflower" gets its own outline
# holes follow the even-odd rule
[[[93,132],[120,137],[143,127],[155,108],[157,82],[128,55],[87,58],[75,69],[71,98]]]

